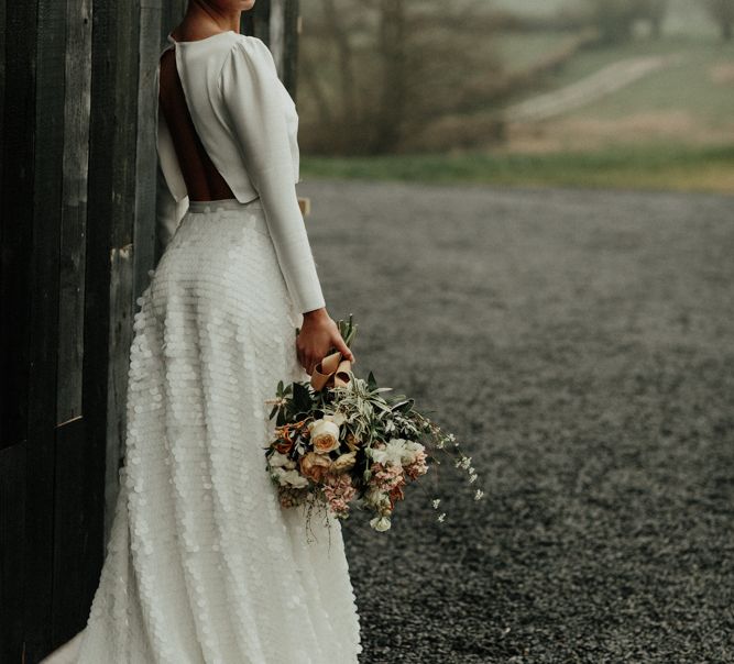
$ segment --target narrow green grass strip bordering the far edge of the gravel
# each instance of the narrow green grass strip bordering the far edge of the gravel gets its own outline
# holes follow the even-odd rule
[[[568,186],[734,193],[734,142],[721,147],[609,147],[549,154],[303,157],[302,178]]]

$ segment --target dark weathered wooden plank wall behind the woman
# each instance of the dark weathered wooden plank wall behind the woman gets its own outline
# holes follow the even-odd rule
[[[156,258],[153,77],[185,7],[0,0],[3,664],[77,633],[99,582]],[[258,0],[242,22],[294,97],[297,7]]]

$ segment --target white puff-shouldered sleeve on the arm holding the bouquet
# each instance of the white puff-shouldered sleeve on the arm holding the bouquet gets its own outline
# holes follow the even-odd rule
[[[285,90],[261,40],[237,42],[222,66],[219,89],[291,297],[302,313],[319,309],[325,300],[298,207]]]

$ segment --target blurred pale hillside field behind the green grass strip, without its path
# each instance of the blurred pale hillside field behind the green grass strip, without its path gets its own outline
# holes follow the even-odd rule
[[[682,12],[682,13],[681,13]],[[692,16],[699,15],[693,12]],[[682,20],[678,9],[671,20]],[[675,24],[675,23],[673,23]],[[664,146],[721,146],[734,142],[734,43],[715,32],[668,30],[659,40],[637,37],[625,44],[579,51],[541,84],[524,90],[510,104],[563,91],[611,65],[659,56],[670,63],[621,89],[590,98],[541,122],[511,124],[508,148],[515,152],[600,152],[620,143]],[[499,51],[511,70],[522,70],[558,52],[557,33],[505,35]],[[673,169],[678,173],[678,169]],[[678,179],[677,177],[675,179]],[[708,179],[708,178],[706,178]]]

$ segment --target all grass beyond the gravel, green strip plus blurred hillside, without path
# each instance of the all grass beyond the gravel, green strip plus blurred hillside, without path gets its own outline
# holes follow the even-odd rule
[[[505,7],[534,15],[552,14],[563,0],[534,0]],[[648,190],[734,192],[734,43],[723,44],[701,8],[672,0],[659,40],[584,48],[534,89],[507,100],[507,108],[568,89],[611,65],[657,56],[670,63],[618,89],[591,96],[543,120],[507,121],[506,143],[476,129],[475,148],[449,154],[322,158],[302,155],[302,175],[370,180],[396,179],[503,186],[612,187]],[[493,35],[508,70],[521,73],[559,53],[578,35],[529,32]],[[578,86],[577,86],[578,87]],[[482,128],[476,118],[457,118]],[[502,111],[500,111],[502,112]],[[537,118],[537,117],[536,117]],[[475,124],[473,124],[475,122]],[[469,132],[474,130],[469,130]],[[452,139],[443,139],[441,146]],[[461,135],[461,141],[467,139]]]

